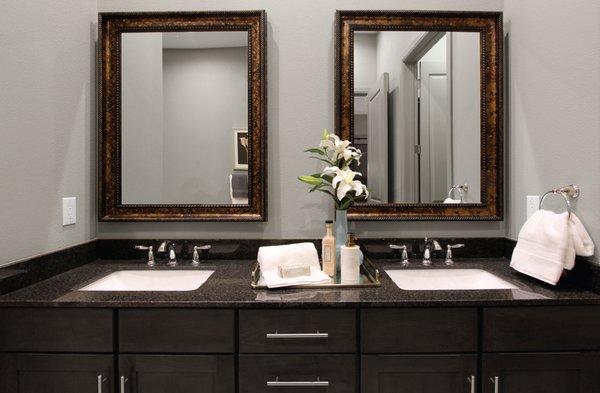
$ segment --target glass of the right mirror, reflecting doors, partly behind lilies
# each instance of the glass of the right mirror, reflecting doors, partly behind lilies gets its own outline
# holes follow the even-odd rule
[[[478,32],[355,31],[354,145],[377,203],[480,203]]]

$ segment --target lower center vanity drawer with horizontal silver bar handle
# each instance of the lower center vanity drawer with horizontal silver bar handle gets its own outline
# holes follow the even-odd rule
[[[239,392],[356,392],[352,355],[240,355]]]

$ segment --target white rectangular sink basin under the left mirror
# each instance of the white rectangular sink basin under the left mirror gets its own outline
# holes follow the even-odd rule
[[[119,270],[80,291],[193,291],[214,270]]]

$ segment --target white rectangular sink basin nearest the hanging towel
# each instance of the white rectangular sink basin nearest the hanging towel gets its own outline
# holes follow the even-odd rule
[[[386,269],[385,272],[400,289],[412,291],[517,289],[482,269]]]

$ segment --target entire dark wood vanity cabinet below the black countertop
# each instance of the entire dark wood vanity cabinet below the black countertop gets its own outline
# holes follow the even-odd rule
[[[600,306],[0,317],[1,393],[600,392]]]

